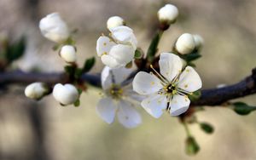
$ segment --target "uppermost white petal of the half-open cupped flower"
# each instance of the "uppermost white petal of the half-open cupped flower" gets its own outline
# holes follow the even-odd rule
[[[137,49],[137,38],[128,26],[117,26],[110,30],[112,37],[123,44],[131,44],[133,49]]]

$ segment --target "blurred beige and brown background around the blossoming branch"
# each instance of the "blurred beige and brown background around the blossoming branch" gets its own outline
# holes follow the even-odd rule
[[[160,52],[170,51],[183,32],[205,39],[196,70],[204,89],[237,83],[256,66],[256,0],[0,0],[0,32],[12,39],[26,36],[26,54],[12,68],[62,71],[64,62],[52,50],[54,43],[41,36],[39,20],[59,12],[71,29],[78,29],[79,64],[96,55],[96,39],[107,31],[108,17],[119,15],[135,31],[139,46],[147,49],[157,24],[156,13],[165,3],[177,6],[180,16],[160,41]],[[102,70],[97,58],[91,72]],[[81,106],[62,107],[52,96],[35,102],[24,95],[25,86],[0,89],[1,160],[82,159],[256,159],[256,112],[241,117],[220,107],[196,113],[211,123],[214,133],[191,125],[201,151],[185,154],[183,126],[165,114],[150,117],[143,109],[143,125],[125,129],[117,121],[104,123],[96,115],[97,89],[82,94]],[[242,99],[256,106],[255,95]]]

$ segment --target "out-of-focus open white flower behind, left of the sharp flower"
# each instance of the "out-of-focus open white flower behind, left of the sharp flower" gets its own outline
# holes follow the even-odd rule
[[[113,123],[116,114],[119,123],[126,128],[137,127],[142,122],[140,114],[135,109],[137,100],[141,96],[131,89],[131,85],[123,86],[131,71],[125,67],[111,69],[108,66],[102,71],[104,95],[98,102],[96,111],[106,123]]]

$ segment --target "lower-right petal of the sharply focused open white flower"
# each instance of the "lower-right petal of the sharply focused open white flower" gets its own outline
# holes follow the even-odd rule
[[[176,94],[170,102],[172,116],[178,116],[189,109],[190,100],[188,97]]]

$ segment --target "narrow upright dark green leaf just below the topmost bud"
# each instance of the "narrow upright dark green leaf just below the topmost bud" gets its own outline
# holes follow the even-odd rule
[[[147,52],[147,59],[152,62],[154,60],[154,55],[157,53],[158,44],[160,42],[160,37],[162,36],[163,31],[157,31],[154,35]]]

